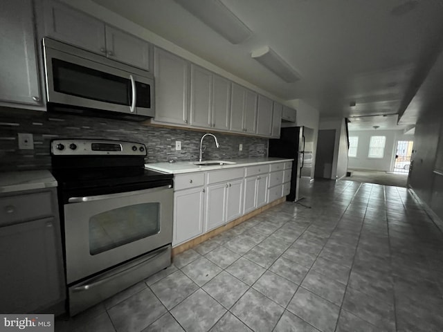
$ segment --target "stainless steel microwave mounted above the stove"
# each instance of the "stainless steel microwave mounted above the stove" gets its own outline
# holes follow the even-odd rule
[[[48,106],[154,116],[154,77],[148,71],[74,46],[43,39]]]

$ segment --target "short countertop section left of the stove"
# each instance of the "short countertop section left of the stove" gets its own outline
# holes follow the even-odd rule
[[[0,193],[48,187],[57,187],[57,181],[47,169],[0,174]]]

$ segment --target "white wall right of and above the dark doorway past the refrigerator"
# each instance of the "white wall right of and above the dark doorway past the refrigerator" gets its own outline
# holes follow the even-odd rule
[[[334,158],[332,160],[331,178],[338,180],[347,172],[347,138],[345,119],[321,119],[320,130],[335,129]]]

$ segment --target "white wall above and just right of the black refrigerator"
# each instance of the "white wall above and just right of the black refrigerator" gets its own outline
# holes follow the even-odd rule
[[[314,147],[312,154],[312,169],[311,179],[314,178],[316,168],[316,155],[317,155],[317,139],[318,139],[318,124],[320,121],[320,113],[314,107],[307,104],[301,99],[293,99],[287,102],[289,107],[296,109],[296,123],[282,122],[282,127],[300,127],[305,126],[314,129]]]

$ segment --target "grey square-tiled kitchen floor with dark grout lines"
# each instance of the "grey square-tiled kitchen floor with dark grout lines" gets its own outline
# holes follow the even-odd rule
[[[443,331],[443,236],[404,188],[316,181],[56,331]]]

